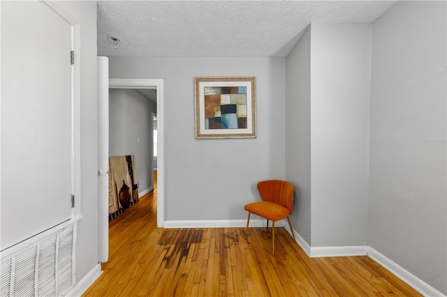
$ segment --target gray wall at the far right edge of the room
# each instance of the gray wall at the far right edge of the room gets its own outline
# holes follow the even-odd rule
[[[447,293],[446,2],[374,24],[368,242]]]

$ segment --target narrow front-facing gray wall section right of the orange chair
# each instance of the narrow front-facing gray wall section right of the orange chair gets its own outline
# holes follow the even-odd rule
[[[311,25],[312,247],[367,243],[371,25]]]

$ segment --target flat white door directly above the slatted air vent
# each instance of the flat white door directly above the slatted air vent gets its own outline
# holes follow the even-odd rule
[[[1,1],[1,250],[72,217],[72,26]]]

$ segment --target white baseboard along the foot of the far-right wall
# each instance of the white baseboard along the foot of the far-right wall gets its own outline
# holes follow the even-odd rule
[[[406,282],[410,287],[418,291],[420,294],[423,294],[423,296],[446,296],[442,294],[437,289],[434,289],[434,287],[430,286],[430,284],[427,284],[423,280],[420,280],[420,278],[416,277],[415,275],[411,274],[409,271],[407,271],[405,268],[397,264],[395,261],[387,258],[380,252],[377,252],[374,250],[374,248],[367,247],[367,254],[368,257],[376,261],[377,263],[381,264],[381,266],[385,267],[388,271],[399,277],[401,280]]]

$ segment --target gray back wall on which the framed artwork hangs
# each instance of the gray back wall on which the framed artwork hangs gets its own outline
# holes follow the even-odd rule
[[[258,137],[196,139],[196,76],[256,76]],[[285,59],[111,56],[110,77],[164,79],[166,220],[246,220],[256,183],[285,178]]]

